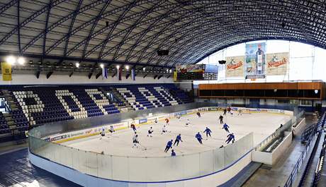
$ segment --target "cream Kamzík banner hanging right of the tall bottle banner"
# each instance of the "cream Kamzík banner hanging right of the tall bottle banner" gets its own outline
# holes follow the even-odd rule
[[[288,68],[289,54],[272,53],[266,54],[266,75],[267,76],[284,76]]]

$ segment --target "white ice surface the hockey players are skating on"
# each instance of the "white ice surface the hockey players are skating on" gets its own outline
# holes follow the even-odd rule
[[[167,130],[169,133],[161,135],[162,127],[165,121],[158,123],[142,125],[137,127],[137,134],[139,135],[140,144],[147,148],[141,147],[133,148],[133,130],[131,128],[114,132],[112,135],[106,133],[106,137],[100,140],[100,135],[94,135],[89,138],[82,138],[79,140],[71,140],[63,145],[75,147],[80,150],[88,150],[92,152],[102,151],[106,155],[128,156],[128,157],[162,157],[171,155],[171,151],[165,153],[164,149],[169,140],[174,140],[176,135],[181,133],[183,142],[179,146],[173,146],[176,155],[188,155],[196,152],[203,152],[212,150],[225,143],[227,132],[220,125],[218,117],[222,114],[221,111],[201,112],[201,118],[196,114],[182,116],[181,119],[170,119]],[[191,124],[186,126],[185,123],[189,119]],[[281,123],[286,123],[291,119],[291,116],[286,114],[271,114],[271,113],[253,113],[242,114],[242,116],[233,116],[227,114],[224,117],[230,128],[230,132],[235,134],[235,140],[239,140],[248,133],[254,133],[254,145],[257,145],[264,140],[264,138],[274,133],[276,128],[279,128]],[[147,131],[153,127],[154,133],[152,138],[147,137]],[[206,140],[206,134],[203,133],[206,126],[210,128],[212,137]],[[200,132],[203,140],[203,145],[198,143],[195,138],[196,133]]]

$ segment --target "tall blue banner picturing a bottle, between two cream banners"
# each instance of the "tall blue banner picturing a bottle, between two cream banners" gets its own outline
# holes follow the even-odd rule
[[[265,78],[266,43],[246,44],[245,78]]]

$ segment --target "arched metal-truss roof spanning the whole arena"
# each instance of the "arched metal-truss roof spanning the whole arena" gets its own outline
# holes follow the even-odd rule
[[[1,0],[0,54],[165,67],[251,40],[325,48],[325,11],[323,0]]]

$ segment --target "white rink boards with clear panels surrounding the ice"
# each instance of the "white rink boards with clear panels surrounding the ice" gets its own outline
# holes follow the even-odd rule
[[[237,111],[232,107],[232,111]],[[278,109],[245,109],[249,113],[272,113],[291,116],[292,111]],[[155,119],[173,119],[201,112],[216,112],[219,107],[201,107],[148,116],[147,118],[127,119],[79,131],[48,135],[43,138],[47,143],[33,143],[30,140],[30,162],[37,167],[62,176],[64,179],[81,186],[137,186],[137,187],[174,187],[174,186],[223,186],[236,176],[247,164],[252,162],[254,135],[249,133],[234,144],[223,149],[198,152],[177,157],[116,157],[96,152],[77,150],[60,145],[69,140],[99,135],[102,128],[108,131],[113,125],[117,131],[129,128],[131,123],[143,126],[154,123]],[[244,114],[247,115],[247,114]]]

